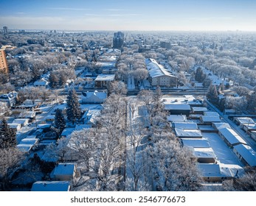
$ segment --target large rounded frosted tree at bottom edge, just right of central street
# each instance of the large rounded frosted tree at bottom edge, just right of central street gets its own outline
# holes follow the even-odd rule
[[[198,191],[201,178],[192,154],[176,141],[162,138],[153,146],[162,191]]]

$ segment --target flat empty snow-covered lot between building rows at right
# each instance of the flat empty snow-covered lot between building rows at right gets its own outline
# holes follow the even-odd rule
[[[238,157],[234,154],[234,152],[232,152],[232,149],[226,145],[226,143],[217,133],[203,132],[202,135],[209,141],[210,146],[215,152],[219,162],[243,166],[240,160],[238,160]]]

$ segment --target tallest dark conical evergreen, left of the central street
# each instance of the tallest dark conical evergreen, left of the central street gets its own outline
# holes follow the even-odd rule
[[[75,123],[81,116],[80,104],[78,102],[78,96],[74,89],[69,90],[69,94],[66,100],[67,109],[66,115],[69,121],[72,121],[72,124]]]

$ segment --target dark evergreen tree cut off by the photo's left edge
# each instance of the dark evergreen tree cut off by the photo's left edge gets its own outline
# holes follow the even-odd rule
[[[17,145],[16,133],[9,127],[5,118],[0,125],[0,149],[15,147]]]

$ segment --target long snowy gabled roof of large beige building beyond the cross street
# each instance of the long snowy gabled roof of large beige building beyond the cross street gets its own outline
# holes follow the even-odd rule
[[[162,77],[162,76],[177,78],[177,77],[173,76],[172,74],[170,74],[170,72],[167,71],[167,69],[163,65],[160,65],[154,59],[151,59],[151,58],[146,59],[145,64],[148,69],[148,73],[152,78]]]

